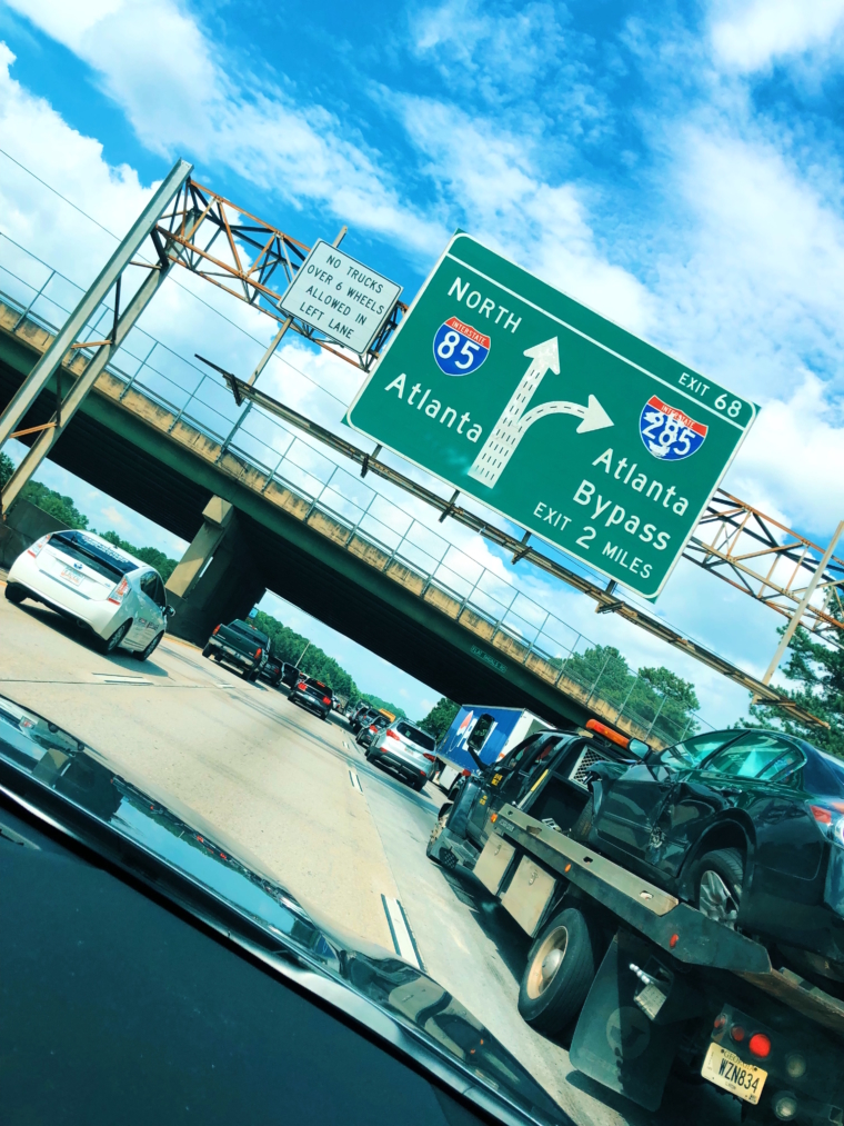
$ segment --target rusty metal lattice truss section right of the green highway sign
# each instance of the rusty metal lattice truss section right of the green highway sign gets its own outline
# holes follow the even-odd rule
[[[806,595],[824,548],[719,489],[683,554],[790,619]],[[844,560],[835,555],[829,558],[800,624],[844,647]]]

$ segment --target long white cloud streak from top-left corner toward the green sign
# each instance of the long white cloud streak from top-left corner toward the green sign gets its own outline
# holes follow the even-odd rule
[[[443,241],[439,225],[402,199],[377,153],[347,140],[327,110],[297,107],[249,74],[239,81],[235,61],[218,57],[176,0],[104,0],[79,26],[61,3],[11,7],[91,66],[151,151],[228,166],[290,203],[318,202],[415,251]]]

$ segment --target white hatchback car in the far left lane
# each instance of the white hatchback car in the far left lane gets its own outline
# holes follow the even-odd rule
[[[44,602],[90,629],[101,652],[122,646],[141,661],[174,613],[158,571],[90,531],[42,536],[15,560],[6,597]]]

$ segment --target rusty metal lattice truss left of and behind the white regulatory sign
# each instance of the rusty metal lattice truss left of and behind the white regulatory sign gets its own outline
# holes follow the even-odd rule
[[[173,262],[273,320],[288,320],[280,301],[309,253],[304,242],[192,179],[185,182],[173,206],[161,217],[158,233]],[[290,328],[312,343],[368,372],[406,311],[405,304],[396,302],[361,357],[304,321],[289,320]]]

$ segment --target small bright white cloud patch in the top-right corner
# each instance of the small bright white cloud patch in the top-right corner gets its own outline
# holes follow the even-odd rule
[[[844,0],[726,0],[715,12],[716,59],[743,73],[841,46]]]

